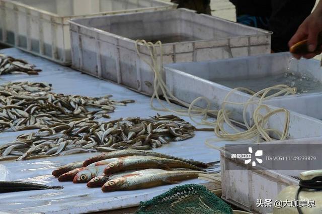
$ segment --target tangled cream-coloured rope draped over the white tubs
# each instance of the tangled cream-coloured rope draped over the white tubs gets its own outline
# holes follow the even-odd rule
[[[270,137],[270,133],[274,133],[278,136],[279,140],[285,140],[288,135],[288,127],[289,127],[289,111],[283,108],[272,110],[269,108],[268,105],[263,104],[265,100],[271,99],[273,97],[279,95],[289,95],[295,94],[296,88],[291,88],[287,85],[276,85],[272,87],[265,88],[258,92],[254,92],[247,88],[235,88],[232,89],[224,98],[221,109],[219,111],[211,109],[211,101],[207,97],[200,96],[194,99],[191,103],[184,102],[178,99],[167,87],[162,74],[163,74],[163,46],[162,42],[157,41],[155,44],[151,42],[146,42],[145,40],[136,40],[136,51],[138,56],[143,60],[154,73],[154,80],[153,80],[153,89],[154,92],[150,99],[150,106],[155,111],[164,111],[164,112],[172,112],[182,116],[189,116],[190,119],[198,124],[198,125],[207,125],[214,127],[215,135],[220,138],[220,140],[253,140],[256,142],[261,141],[272,141],[273,139]],[[142,45],[143,47],[149,50],[149,55],[151,61],[146,60],[145,58],[141,57],[139,52],[139,47]],[[141,46],[141,47],[142,47]],[[159,50],[159,60],[157,52]],[[161,91],[163,97],[166,99],[168,106],[166,106],[159,97],[158,92]],[[252,96],[249,98],[247,102],[232,102],[228,101],[229,96],[236,92],[236,91],[245,91]],[[267,95],[271,91],[277,91],[272,95]],[[154,98],[156,98],[157,102],[162,106],[162,108],[156,108],[153,105]],[[176,105],[172,103],[171,100],[179,103],[182,106],[188,108],[186,109],[176,109]],[[196,106],[196,103],[200,100],[206,101],[206,107],[200,108]],[[240,131],[235,125],[232,123],[232,119],[229,118],[229,111],[226,109],[226,104],[234,104],[234,105],[244,105],[243,111],[243,125],[247,128],[246,131]],[[247,121],[247,112],[248,107],[251,104],[256,104],[257,108],[253,112],[253,121],[254,125],[251,126],[251,122]],[[265,114],[261,112],[266,111]],[[284,114],[285,121],[284,121],[284,128],[282,131],[272,129],[272,128],[265,128],[267,127],[269,118],[276,114]],[[208,115],[215,115],[217,116],[217,121],[212,122],[207,120]],[[201,121],[196,121],[194,118],[196,116],[203,116]],[[251,119],[250,119],[251,120]],[[224,128],[224,124],[227,124],[230,128],[233,129],[233,133],[229,133]],[[209,142],[206,142],[208,146],[211,146]],[[216,148],[217,149],[217,148]]]

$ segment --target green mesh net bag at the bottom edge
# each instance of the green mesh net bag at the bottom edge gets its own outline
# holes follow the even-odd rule
[[[177,186],[142,202],[137,214],[198,213],[232,214],[232,208],[202,185]]]

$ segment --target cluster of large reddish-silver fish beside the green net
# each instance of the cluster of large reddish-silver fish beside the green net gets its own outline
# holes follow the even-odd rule
[[[134,190],[198,178],[217,166],[141,150],[105,153],[61,166],[52,172],[59,181],[86,183],[104,192]],[[208,168],[208,169],[207,169]]]

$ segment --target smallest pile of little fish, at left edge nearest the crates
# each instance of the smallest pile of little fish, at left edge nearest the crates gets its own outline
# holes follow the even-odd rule
[[[0,75],[20,73],[37,75],[41,69],[36,69],[35,67],[35,65],[29,64],[23,59],[0,54]]]

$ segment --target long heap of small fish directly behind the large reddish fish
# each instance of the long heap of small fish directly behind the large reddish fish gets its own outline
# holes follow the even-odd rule
[[[148,150],[192,138],[196,128],[174,115],[147,119],[120,118],[94,121],[92,118],[55,123],[38,132],[23,134],[0,146],[1,160],[28,160],[82,152],[110,152],[123,149]]]

